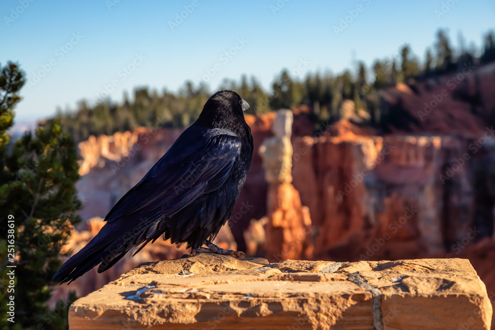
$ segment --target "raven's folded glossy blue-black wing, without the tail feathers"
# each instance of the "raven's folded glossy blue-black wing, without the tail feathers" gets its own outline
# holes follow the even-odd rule
[[[241,139],[229,130],[190,127],[105,217],[112,222],[161,206],[172,216],[199,195],[218,189],[241,153]]]

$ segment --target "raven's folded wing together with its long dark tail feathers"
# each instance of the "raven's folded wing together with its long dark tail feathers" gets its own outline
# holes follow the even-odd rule
[[[72,282],[99,263],[102,272],[133,246],[159,237],[165,224],[160,220],[220,188],[240,153],[241,139],[229,130],[188,128],[115,204],[98,235],[67,260],[53,280]]]

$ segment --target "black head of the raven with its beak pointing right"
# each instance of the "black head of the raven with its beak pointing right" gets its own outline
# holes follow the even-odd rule
[[[219,91],[204,103],[203,110],[194,125],[224,128],[243,135],[247,125],[243,111],[248,109],[249,104],[236,92]]]

